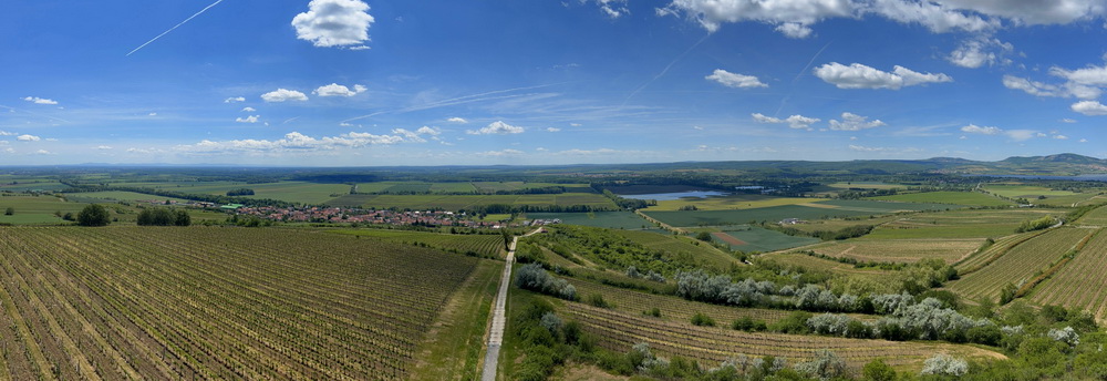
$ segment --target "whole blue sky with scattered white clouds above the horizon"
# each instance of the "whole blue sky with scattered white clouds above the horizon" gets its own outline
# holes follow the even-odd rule
[[[35,0],[0,52],[0,165],[1107,156],[1107,0]]]

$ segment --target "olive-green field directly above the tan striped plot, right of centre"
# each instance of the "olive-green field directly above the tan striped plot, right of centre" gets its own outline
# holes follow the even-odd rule
[[[1014,234],[1025,220],[1065,210],[1046,208],[945,210],[897,216],[878,226],[866,239],[999,238]]]

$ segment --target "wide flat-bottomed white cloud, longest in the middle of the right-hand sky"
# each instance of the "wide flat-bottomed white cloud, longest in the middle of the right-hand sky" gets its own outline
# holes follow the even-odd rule
[[[899,90],[903,86],[953,81],[953,78],[945,74],[919,73],[900,65],[896,65],[891,72],[886,72],[860,63],[847,66],[838,62],[815,68],[815,76],[838,89]]]

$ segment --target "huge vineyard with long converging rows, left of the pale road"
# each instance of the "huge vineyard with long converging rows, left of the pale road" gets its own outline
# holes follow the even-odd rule
[[[0,374],[402,379],[477,259],[247,228],[0,229]]]

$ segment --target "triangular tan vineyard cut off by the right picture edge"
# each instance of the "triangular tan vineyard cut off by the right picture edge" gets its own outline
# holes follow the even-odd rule
[[[1107,234],[1099,233],[1052,278],[1038,285],[1031,300],[1092,312],[1107,319]]]

